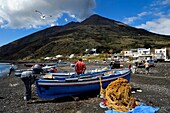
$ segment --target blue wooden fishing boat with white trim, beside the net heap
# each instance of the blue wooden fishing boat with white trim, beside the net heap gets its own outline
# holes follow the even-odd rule
[[[102,87],[116,80],[117,78],[125,78],[130,81],[129,69],[110,70],[103,73],[98,73],[95,76],[76,76],[65,79],[45,79],[40,78],[36,80],[37,94],[41,98],[59,98],[65,96],[74,96],[77,94],[84,94],[91,91],[99,91],[100,83]]]

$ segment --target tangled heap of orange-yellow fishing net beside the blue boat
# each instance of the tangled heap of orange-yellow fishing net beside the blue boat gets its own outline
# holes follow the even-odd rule
[[[131,94],[130,84],[123,78],[111,82],[106,89],[101,84],[100,94],[106,99],[107,107],[118,112],[127,112],[139,105]]]

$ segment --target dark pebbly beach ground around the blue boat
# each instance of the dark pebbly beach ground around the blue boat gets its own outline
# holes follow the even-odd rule
[[[89,65],[87,65],[89,66]],[[22,68],[22,64],[18,66]],[[90,67],[90,66],[89,66]],[[68,67],[60,67],[61,70]],[[138,69],[138,74],[132,74],[133,88],[140,88],[142,92],[134,93],[141,102],[160,107],[158,113],[170,112],[170,63],[157,63],[145,75],[144,69]],[[73,97],[59,99],[42,99],[33,89],[33,101],[23,99],[24,85],[19,77],[13,74],[0,79],[0,113],[104,113],[100,108],[98,93],[80,95],[79,100]]]

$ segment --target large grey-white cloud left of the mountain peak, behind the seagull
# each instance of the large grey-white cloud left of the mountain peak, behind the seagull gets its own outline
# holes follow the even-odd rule
[[[0,0],[0,27],[36,28],[57,23],[63,13],[81,21],[91,14],[95,0]],[[35,10],[51,18],[41,19]]]

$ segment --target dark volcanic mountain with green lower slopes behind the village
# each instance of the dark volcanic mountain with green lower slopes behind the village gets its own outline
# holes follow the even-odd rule
[[[92,15],[81,23],[71,22],[33,33],[0,47],[2,60],[29,60],[57,54],[97,52],[122,49],[170,47],[170,36],[136,29],[124,23]]]

